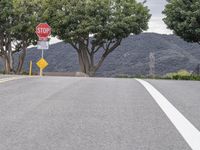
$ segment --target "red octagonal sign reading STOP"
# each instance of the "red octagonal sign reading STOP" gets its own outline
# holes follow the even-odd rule
[[[35,33],[40,40],[46,40],[51,35],[51,27],[47,23],[40,23],[36,27]]]

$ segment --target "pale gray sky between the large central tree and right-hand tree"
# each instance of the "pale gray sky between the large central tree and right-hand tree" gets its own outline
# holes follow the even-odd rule
[[[144,0],[138,0],[140,2]],[[166,0],[147,0],[147,5],[151,10],[151,20],[149,22],[148,32],[156,32],[161,34],[171,34],[172,31],[168,30],[165,23],[162,21],[164,17],[162,11],[164,10],[165,5],[167,4]]]

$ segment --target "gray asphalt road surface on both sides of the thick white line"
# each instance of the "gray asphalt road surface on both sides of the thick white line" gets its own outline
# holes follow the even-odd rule
[[[17,78],[0,82],[0,150],[191,150],[134,79]],[[147,81],[200,129],[200,82]]]

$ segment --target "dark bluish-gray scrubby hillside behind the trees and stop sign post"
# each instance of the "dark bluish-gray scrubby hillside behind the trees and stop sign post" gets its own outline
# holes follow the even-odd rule
[[[156,58],[156,74],[164,75],[180,69],[194,70],[200,64],[200,46],[183,41],[175,35],[143,33],[123,40],[121,46],[111,53],[97,76],[116,76],[119,74],[148,75],[149,53]],[[40,58],[41,51],[36,48],[28,50],[25,70],[28,62],[34,63]],[[45,51],[49,62],[47,72],[75,72],[79,70],[76,51],[63,42],[50,46]],[[38,71],[36,65],[33,68]]]

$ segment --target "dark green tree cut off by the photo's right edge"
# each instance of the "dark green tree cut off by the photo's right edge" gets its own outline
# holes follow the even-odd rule
[[[168,0],[163,19],[169,29],[185,41],[200,44],[200,1]]]

